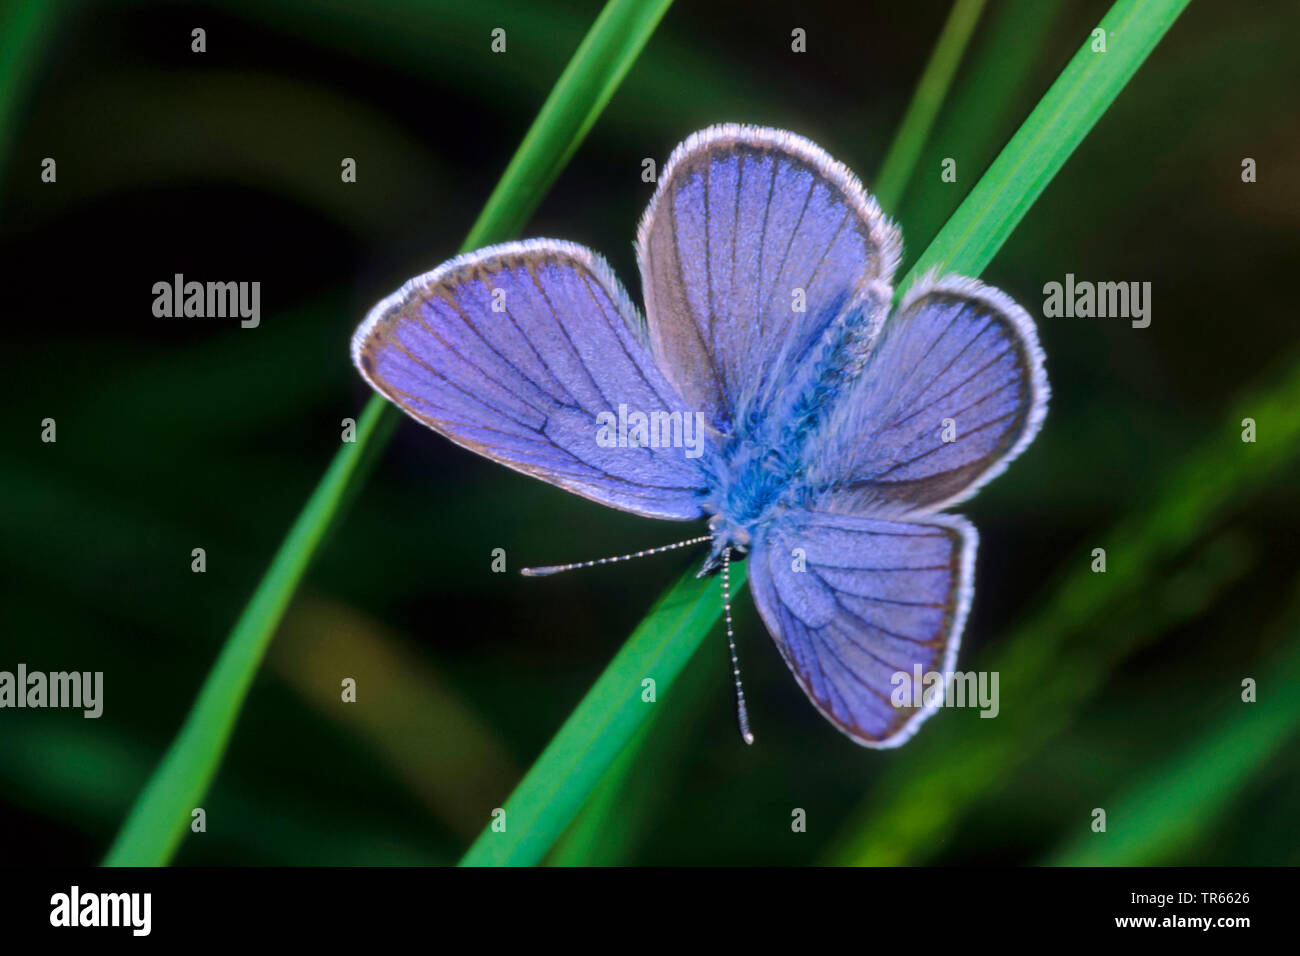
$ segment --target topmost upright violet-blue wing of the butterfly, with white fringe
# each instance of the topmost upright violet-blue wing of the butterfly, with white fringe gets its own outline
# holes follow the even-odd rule
[[[898,250],[857,177],[809,140],[697,133],[664,166],[637,233],[655,356],[720,432],[744,432],[800,388],[837,320],[870,337]]]

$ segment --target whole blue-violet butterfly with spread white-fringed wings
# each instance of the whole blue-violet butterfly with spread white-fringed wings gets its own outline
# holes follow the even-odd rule
[[[729,562],[748,555],[812,704],[897,747],[936,706],[897,705],[898,675],[953,670],[974,591],[975,528],[942,509],[1024,450],[1048,401],[1034,321],[1001,291],[930,274],[889,312],[900,251],[814,143],[712,126],[673,151],[637,230],[645,316],[595,252],[511,242],[384,299],[352,358],[472,451],[624,511],[707,518],[681,544],[711,542],[728,639]],[[737,696],[753,740],[738,669]]]

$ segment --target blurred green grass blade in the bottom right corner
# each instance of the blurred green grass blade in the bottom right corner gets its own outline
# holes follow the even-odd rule
[[[1300,730],[1300,630],[1294,610],[1287,624],[1280,652],[1244,671],[1257,675],[1257,701],[1230,696],[1234,702],[1206,721],[1208,734],[1106,804],[1106,832],[1095,834],[1084,823],[1082,834],[1046,862],[1158,866],[1187,860],[1188,848],[1212,829],[1251,775],[1264,770]]]

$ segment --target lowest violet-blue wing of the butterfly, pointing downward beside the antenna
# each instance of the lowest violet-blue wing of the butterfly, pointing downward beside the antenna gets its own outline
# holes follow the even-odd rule
[[[750,588],[812,704],[864,747],[897,747],[932,706],[896,697],[952,671],[974,588],[978,536],[965,519],[887,522],[790,511],[750,553]]]

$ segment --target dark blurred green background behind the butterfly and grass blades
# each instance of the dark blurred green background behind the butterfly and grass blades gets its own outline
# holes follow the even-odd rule
[[[900,207],[913,255],[1106,9],[987,7]],[[0,14],[43,18],[39,56],[0,74],[0,92],[21,96],[0,169],[16,319],[0,411],[0,669],[103,670],[107,688],[99,721],[0,713],[0,862],[101,857],[337,450],[341,419],[367,398],[351,330],[456,250],[599,8],[72,3],[47,14],[27,3]],[[630,239],[653,189],[641,160],[662,163],[719,121],[794,129],[870,187],[948,10],[676,5],[525,232],[599,248],[636,297]],[[205,55],[190,52],[194,26],[208,31]],[[494,26],[508,31],[504,56],[489,52]],[[794,26],[806,55],[790,52]],[[745,597],[737,633],[758,744],[737,740],[715,632],[677,685],[689,702],[662,706],[621,787],[578,816],[555,861],[841,858],[863,801],[919,773],[920,754],[1001,754],[997,736],[1022,752],[996,773],[975,767],[978,792],[909,858],[1060,860],[1092,808],[1113,805],[1119,836],[1115,810],[1154,793],[1162,826],[1179,814],[1188,826],[1144,858],[1300,862],[1300,744],[1271,723],[1277,711],[1252,718],[1235,704],[1252,675],[1258,706],[1286,698],[1273,662],[1296,641],[1278,623],[1296,584],[1295,457],[1280,446],[1252,470],[1262,445],[1239,442],[1231,420],[1243,395],[1264,408],[1296,358],[1280,289],[1300,254],[1287,172],[1300,131],[1286,105],[1297,42],[1300,10],[1286,0],[1192,4],[985,273],[1031,312],[1067,272],[1154,287],[1148,329],[1040,320],[1054,393],[1045,429],[962,509],[982,535],[962,667],[1011,641],[1032,652],[1056,627],[1041,617],[1052,596],[1088,574],[1108,529],[1141,529],[1154,511],[1171,542],[1158,558],[1113,555],[1108,580],[1136,576],[1124,601],[1084,602],[1069,654],[1043,649],[1043,732],[1022,745],[1013,714],[1030,698],[1004,684],[998,719],[944,713],[897,753],[864,752],[807,704]],[[39,181],[46,156],[57,185]],[[358,157],[355,185],[338,182],[342,156]],[[956,187],[939,179],[944,156],[958,160]],[[1257,183],[1240,179],[1245,156]],[[260,280],[261,326],[153,319],[150,289],[176,272]],[[69,289],[74,300],[58,298]],[[1251,411],[1262,442],[1268,416]],[[39,441],[47,416],[55,445]],[[1199,450],[1204,472],[1174,480]],[[680,531],[403,423],[308,574],[207,799],[208,832],[178,860],[454,861],[474,806],[485,822],[694,563],[526,580],[493,575],[491,548],[514,570]],[[204,575],[190,572],[195,546],[208,551]],[[337,700],[350,646],[365,656],[365,717],[325,705],[321,684]],[[372,687],[394,669],[391,693]],[[1075,674],[1087,675],[1079,687]],[[1225,734],[1260,747],[1234,760]],[[1208,779],[1223,786],[1202,819],[1188,795]],[[790,832],[796,806],[806,834]]]

